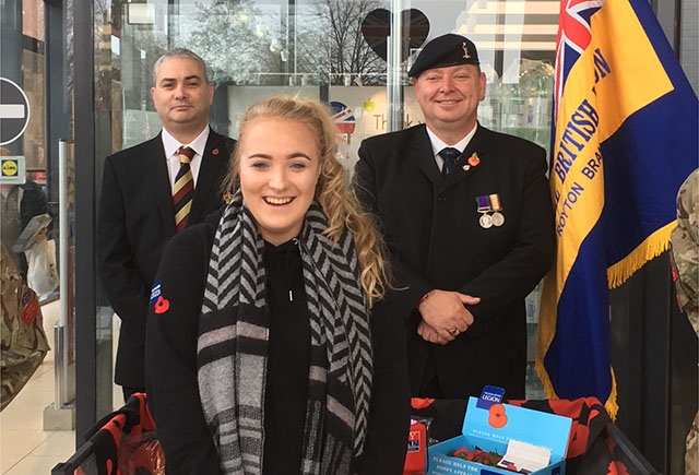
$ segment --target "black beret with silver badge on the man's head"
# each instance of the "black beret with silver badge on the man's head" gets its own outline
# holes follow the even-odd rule
[[[425,45],[407,75],[417,78],[428,69],[457,64],[479,64],[478,51],[471,39],[448,33]]]

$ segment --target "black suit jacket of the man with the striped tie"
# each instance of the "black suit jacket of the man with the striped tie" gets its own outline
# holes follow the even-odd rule
[[[210,130],[188,226],[223,205],[235,141]],[[105,159],[98,218],[99,275],[121,319],[115,381],[144,388],[145,320],[165,242],[175,236],[167,161],[158,133]]]

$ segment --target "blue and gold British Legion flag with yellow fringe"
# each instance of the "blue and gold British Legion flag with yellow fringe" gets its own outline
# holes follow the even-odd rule
[[[550,157],[557,257],[536,355],[548,397],[596,396],[616,415],[609,289],[668,248],[677,190],[697,167],[698,112],[647,0],[561,1]]]

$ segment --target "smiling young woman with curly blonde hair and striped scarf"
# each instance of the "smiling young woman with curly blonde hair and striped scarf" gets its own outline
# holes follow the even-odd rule
[[[169,474],[401,474],[403,325],[318,102],[245,114],[232,202],[165,248],[146,337]]]

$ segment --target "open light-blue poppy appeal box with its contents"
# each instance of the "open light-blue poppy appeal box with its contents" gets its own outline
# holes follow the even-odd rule
[[[571,419],[501,404],[490,389],[469,399],[461,436],[428,448],[428,475],[564,475]]]

